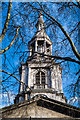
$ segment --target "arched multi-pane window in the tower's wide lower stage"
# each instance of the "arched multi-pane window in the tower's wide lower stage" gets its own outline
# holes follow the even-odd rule
[[[36,84],[40,85],[40,84],[45,84],[45,73],[42,71],[39,71],[36,74]]]

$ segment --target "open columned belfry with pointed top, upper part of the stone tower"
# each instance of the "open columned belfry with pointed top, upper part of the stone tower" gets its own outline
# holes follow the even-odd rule
[[[47,55],[52,55],[52,41],[46,34],[44,30],[44,20],[42,12],[40,11],[39,18],[36,24],[37,32],[29,41],[28,46],[30,50],[30,56],[32,56],[35,52],[44,53]]]

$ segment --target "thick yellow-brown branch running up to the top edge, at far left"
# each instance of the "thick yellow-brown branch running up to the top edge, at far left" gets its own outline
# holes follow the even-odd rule
[[[2,34],[0,36],[0,43],[4,39],[6,31],[7,31],[7,27],[8,27],[9,20],[10,20],[10,15],[11,15],[11,6],[12,6],[12,2],[11,2],[11,0],[9,0],[9,7],[8,7],[8,12],[7,12],[7,18],[6,18],[6,21],[5,21],[5,24],[4,24],[4,28],[3,28]]]

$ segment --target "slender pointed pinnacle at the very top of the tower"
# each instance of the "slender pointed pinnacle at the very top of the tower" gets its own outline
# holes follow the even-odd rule
[[[39,13],[39,18],[36,24],[36,28],[37,30],[42,30],[44,28],[44,20],[43,20],[43,15],[42,15],[42,11],[40,11]]]

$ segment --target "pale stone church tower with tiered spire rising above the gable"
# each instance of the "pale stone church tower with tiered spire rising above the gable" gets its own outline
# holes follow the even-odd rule
[[[42,13],[40,12],[37,32],[28,43],[29,56],[20,67],[19,94],[15,103],[45,96],[66,103],[63,94],[60,64],[55,63],[52,56],[52,41],[45,32]]]

